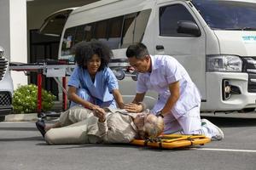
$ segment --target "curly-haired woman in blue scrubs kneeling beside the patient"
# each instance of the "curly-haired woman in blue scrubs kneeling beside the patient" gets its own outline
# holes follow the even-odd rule
[[[112,51],[99,41],[79,42],[73,48],[77,64],[68,81],[70,107],[124,107],[116,77],[108,67]]]

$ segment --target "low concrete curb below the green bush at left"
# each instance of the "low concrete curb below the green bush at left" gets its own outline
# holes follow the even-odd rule
[[[4,122],[31,122],[38,120],[38,113],[10,114],[5,116]]]

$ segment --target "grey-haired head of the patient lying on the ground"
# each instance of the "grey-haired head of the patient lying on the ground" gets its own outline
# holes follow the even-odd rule
[[[141,139],[156,138],[164,131],[164,120],[160,116],[143,112],[136,116],[134,123]]]

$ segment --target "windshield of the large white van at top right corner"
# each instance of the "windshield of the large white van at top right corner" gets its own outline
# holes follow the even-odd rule
[[[220,0],[192,3],[213,30],[256,31],[256,3]]]

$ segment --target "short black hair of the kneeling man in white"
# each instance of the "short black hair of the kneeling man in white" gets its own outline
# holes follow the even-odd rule
[[[136,57],[137,59],[143,59],[144,56],[149,55],[147,47],[142,43],[130,45],[126,50],[126,57]]]

